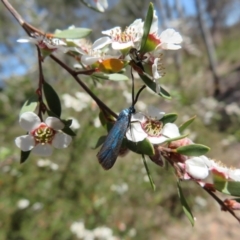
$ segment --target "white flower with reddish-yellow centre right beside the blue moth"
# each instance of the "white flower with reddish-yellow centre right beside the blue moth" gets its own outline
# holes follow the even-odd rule
[[[154,107],[148,107],[147,115],[143,113],[133,114],[126,137],[133,142],[139,142],[147,138],[152,144],[160,144],[169,138],[180,136],[175,124],[167,123],[163,126],[160,120],[164,114]]]

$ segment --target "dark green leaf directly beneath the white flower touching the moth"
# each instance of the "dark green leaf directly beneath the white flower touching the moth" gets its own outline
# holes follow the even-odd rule
[[[132,152],[152,156],[155,154],[153,145],[147,138],[140,142],[131,142],[127,139],[123,140],[123,146],[126,146]]]

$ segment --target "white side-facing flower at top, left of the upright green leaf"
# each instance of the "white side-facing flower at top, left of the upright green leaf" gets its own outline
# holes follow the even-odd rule
[[[100,49],[108,44],[112,44],[115,50],[138,48],[143,35],[143,21],[135,20],[125,31],[122,31],[120,27],[114,27],[102,33],[110,37],[99,38],[94,42],[93,49]]]

